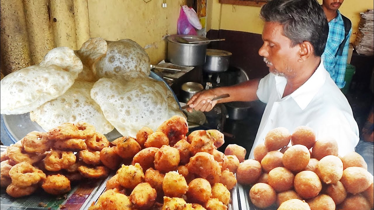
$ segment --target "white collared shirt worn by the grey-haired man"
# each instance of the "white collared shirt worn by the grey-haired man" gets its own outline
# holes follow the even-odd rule
[[[253,158],[253,149],[264,142],[267,132],[276,127],[285,127],[292,134],[298,126],[309,126],[314,130],[316,140],[335,138],[339,155],[355,151],[359,130],[352,108],[325,70],[322,60],[302,86],[282,98],[286,84],[285,77],[274,74],[260,80],[257,97],[267,105],[249,158]]]

